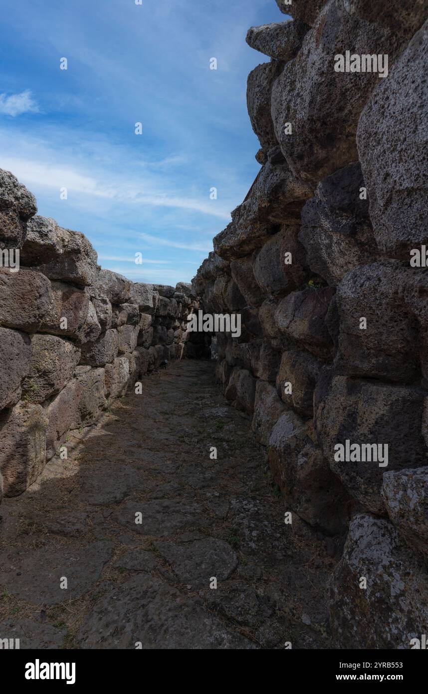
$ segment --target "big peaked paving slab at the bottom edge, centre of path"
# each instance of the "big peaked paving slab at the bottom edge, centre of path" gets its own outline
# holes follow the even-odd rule
[[[135,650],[138,643],[144,650],[255,648],[198,598],[143,575],[100,598],[78,632],[80,648]]]

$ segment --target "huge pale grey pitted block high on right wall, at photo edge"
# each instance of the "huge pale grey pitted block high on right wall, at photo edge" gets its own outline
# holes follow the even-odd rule
[[[408,261],[412,248],[428,244],[427,46],[425,22],[371,95],[358,126],[377,244]]]

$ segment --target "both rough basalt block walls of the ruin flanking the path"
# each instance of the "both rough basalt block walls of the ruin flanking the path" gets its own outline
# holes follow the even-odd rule
[[[428,3],[276,1],[293,20],[247,35],[271,58],[248,77],[261,169],[192,285],[101,269],[0,171],[0,248],[21,264],[0,269],[1,493],[213,337],[287,507],[341,543],[336,645],[409,648],[428,624]],[[336,71],[347,51],[372,71]],[[239,313],[241,335],[187,339],[199,308]]]

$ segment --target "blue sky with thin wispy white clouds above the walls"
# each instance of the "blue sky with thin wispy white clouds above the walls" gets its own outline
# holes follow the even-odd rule
[[[103,267],[190,281],[259,170],[246,78],[269,59],[245,36],[286,19],[275,0],[1,6],[0,168],[39,214],[85,233]]]

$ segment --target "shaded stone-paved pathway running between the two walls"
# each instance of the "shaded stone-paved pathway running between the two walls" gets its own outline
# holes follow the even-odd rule
[[[183,361],[144,378],[3,501],[0,638],[329,648],[328,541],[295,514],[284,523],[266,452],[213,373]]]

